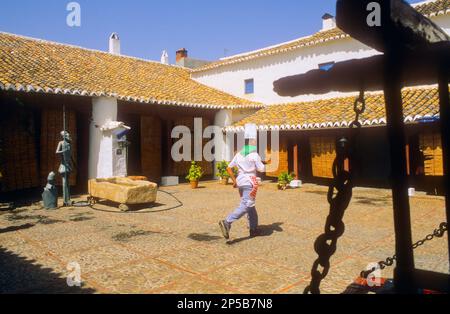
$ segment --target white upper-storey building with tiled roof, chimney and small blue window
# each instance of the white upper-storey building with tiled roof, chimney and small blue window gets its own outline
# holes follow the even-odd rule
[[[444,5],[445,1],[433,0],[413,6],[450,33],[450,14]],[[322,29],[313,35],[223,58],[194,69],[192,78],[234,96],[269,105],[318,100],[344,95],[329,93],[285,98],[273,91],[273,82],[326,67],[333,62],[362,59],[375,54],[379,52],[343,33],[336,28],[334,18],[325,14]]]

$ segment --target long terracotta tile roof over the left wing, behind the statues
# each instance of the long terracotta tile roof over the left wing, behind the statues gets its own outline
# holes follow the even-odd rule
[[[0,32],[1,89],[211,109],[263,107],[202,85],[184,68]]]

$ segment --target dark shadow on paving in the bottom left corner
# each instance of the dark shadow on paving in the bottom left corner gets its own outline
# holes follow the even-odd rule
[[[1,294],[91,294],[95,290],[69,287],[64,276],[0,247]]]

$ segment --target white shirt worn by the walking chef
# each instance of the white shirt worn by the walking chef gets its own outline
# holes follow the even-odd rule
[[[239,175],[237,177],[237,185],[242,186],[252,186],[251,177],[256,177],[256,171],[264,172],[266,167],[261,161],[261,157],[257,152],[243,156],[238,153],[231,161],[230,168],[237,167],[239,169]]]

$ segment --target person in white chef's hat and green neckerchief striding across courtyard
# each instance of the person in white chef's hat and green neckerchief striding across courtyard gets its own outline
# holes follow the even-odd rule
[[[256,195],[258,192],[257,172],[265,172],[264,163],[258,154],[256,125],[245,126],[245,146],[233,158],[227,172],[233,181],[234,188],[239,189],[241,201],[236,210],[225,220],[219,222],[220,229],[225,239],[230,238],[231,226],[245,215],[248,218],[250,237],[257,235],[258,213],[256,211]],[[237,178],[233,168],[238,168]]]

